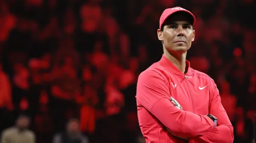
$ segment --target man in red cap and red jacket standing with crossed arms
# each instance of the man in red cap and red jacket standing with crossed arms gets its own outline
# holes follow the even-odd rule
[[[137,83],[138,122],[147,143],[234,139],[216,84],[185,60],[194,23],[194,15],[181,7],[166,9],[160,17],[157,35],[164,54]]]

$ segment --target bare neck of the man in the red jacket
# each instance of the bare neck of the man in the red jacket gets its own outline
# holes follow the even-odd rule
[[[177,67],[181,72],[186,73],[186,56],[187,51],[180,55],[171,55],[169,52],[165,52],[164,55],[168,58],[175,67]]]

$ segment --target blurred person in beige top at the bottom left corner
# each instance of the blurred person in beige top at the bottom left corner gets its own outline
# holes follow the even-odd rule
[[[1,143],[34,143],[36,137],[28,130],[30,119],[27,115],[19,115],[16,126],[7,128],[1,136]]]

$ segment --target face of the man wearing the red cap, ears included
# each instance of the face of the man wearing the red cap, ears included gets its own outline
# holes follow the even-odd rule
[[[191,47],[195,31],[190,21],[188,14],[177,12],[167,18],[164,30],[157,30],[158,39],[171,54],[182,54]]]

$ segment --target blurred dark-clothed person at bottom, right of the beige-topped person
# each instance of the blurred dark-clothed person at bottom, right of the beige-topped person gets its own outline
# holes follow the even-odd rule
[[[89,141],[80,133],[79,120],[70,119],[67,122],[67,131],[56,134],[53,143],[89,143]]]

